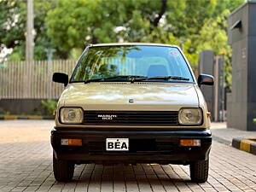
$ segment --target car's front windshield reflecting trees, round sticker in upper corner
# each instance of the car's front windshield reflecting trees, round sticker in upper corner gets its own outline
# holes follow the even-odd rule
[[[175,78],[166,78],[168,76]],[[143,81],[194,82],[179,49],[155,45],[90,47],[81,56],[70,82],[107,79],[129,81],[131,78]]]

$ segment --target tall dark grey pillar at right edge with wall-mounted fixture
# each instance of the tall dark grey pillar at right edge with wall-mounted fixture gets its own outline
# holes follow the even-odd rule
[[[256,131],[256,2],[247,2],[228,18],[232,46],[232,90],[228,102],[228,126]]]

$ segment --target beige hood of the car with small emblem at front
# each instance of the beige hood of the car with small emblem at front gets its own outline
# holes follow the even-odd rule
[[[69,84],[61,99],[84,110],[179,110],[198,108],[194,84],[91,82]]]

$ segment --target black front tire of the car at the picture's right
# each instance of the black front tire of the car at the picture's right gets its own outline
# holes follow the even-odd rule
[[[190,177],[193,182],[205,183],[208,178],[209,160],[195,161],[190,164]]]

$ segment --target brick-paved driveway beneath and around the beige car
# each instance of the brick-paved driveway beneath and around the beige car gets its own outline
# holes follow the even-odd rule
[[[76,166],[74,180],[52,172],[49,120],[0,121],[0,191],[256,191],[256,156],[213,142],[207,183],[189,166]]]

